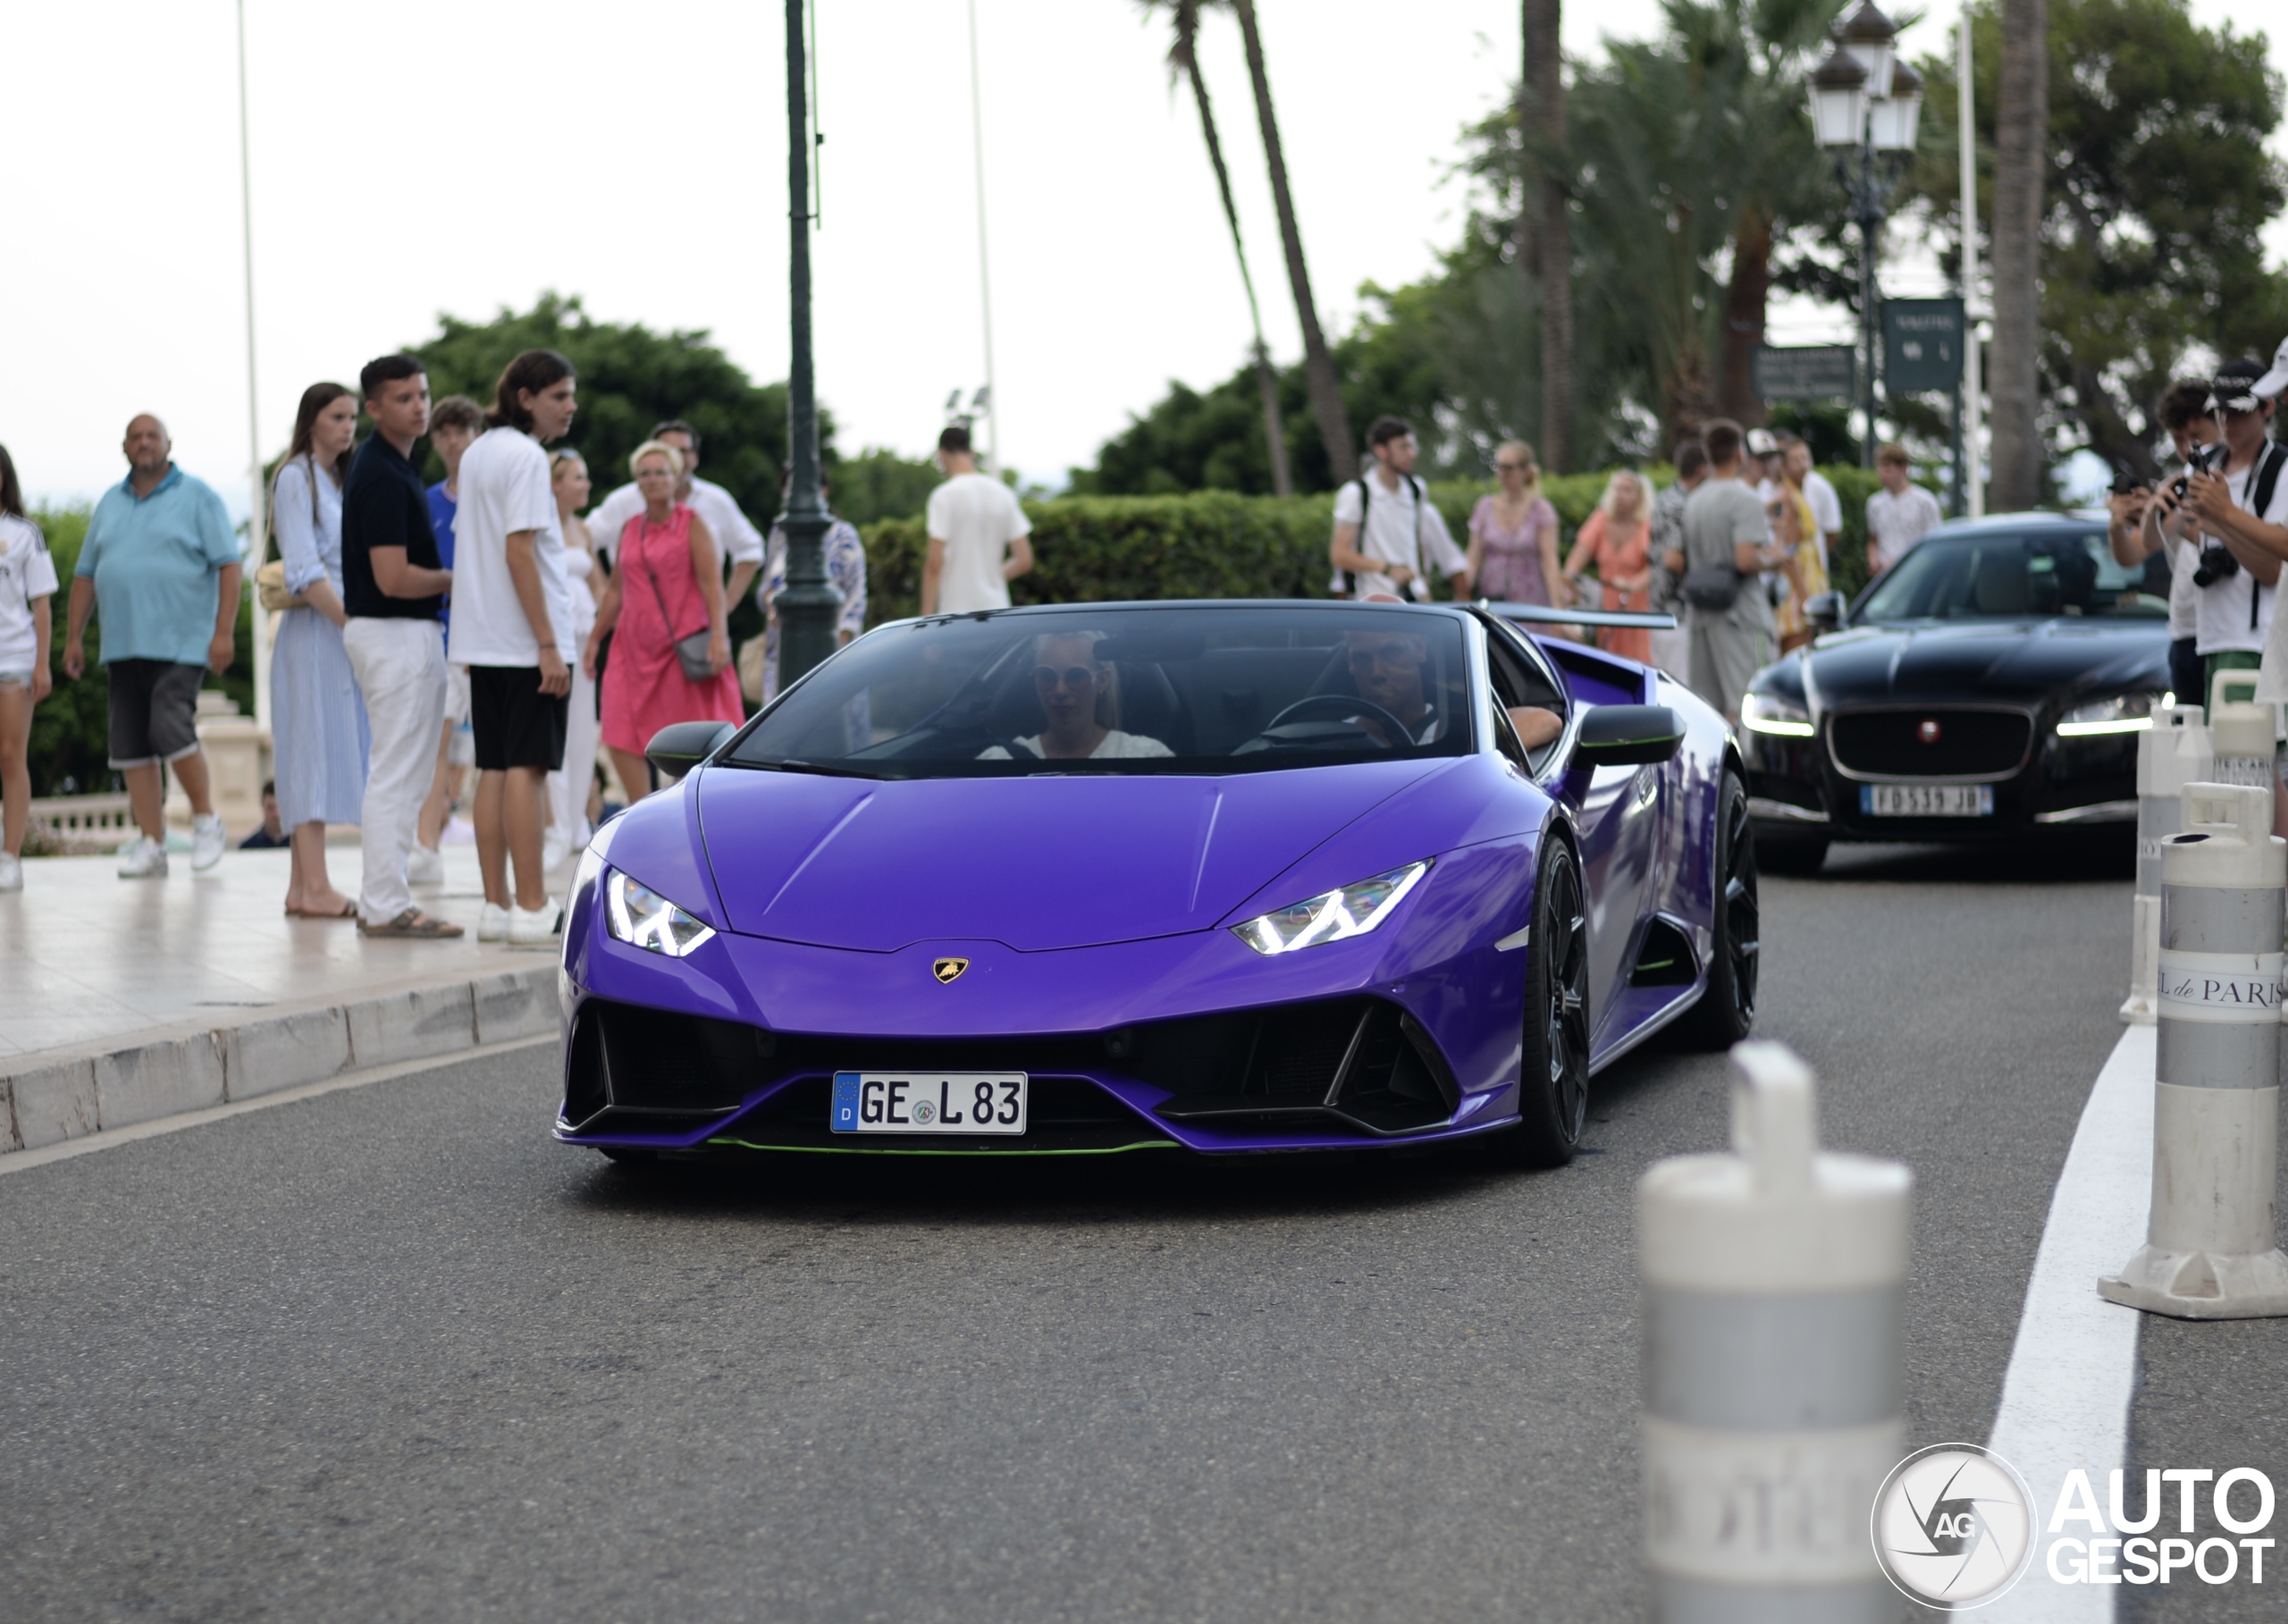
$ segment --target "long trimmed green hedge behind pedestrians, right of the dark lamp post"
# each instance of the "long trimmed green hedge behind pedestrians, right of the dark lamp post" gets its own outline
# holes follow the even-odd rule
[[[1876,489],[1869,469],[1821,469],[1844,505],[1844,540],[1830,558],[1835,590],[1858,592],[1867,583],[1867,496]],[[1654,485],[1668,485],[1666,467],[1647,469]],[[1606,473],[1560,473],[1542,480],[1549,503],[1565,526],[1565,542],[1581,528]],[[1467,544],[1469,515],[1492,483],[1439,480],[1430,501],[1455,542]],[[1334,496],[1238,496],[1194,492],[1185,496],[1055,496],[1030,501],[1036,567],[1011,583],[1018,604],[1087,604],[1151,597],[1325,597],[1327,540],[1334,533]],[[867,618],[872,624],[913,615],[922,604],[922,519],[881,519],[865,526]]]

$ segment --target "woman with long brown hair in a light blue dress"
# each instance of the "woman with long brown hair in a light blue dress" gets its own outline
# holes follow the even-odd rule
[[[341,645],[341,483],[357,439],[357,396],[311,384],[293,416],[293,446],[270,480],[270,533],[293,606],[270,645],[270,750],[279,823],[293,867],[286,915],[355,920],[357,903],[325,871],[325,826],[357,823],[366,798],[366,702]]]

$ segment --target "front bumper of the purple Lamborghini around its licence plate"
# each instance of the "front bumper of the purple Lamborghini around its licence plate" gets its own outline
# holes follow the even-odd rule
[[[1229,931],[1016,952],[892,954],[718,933],[664,958],[565,920],[556,1139],[620,1151],[1336,1151],[1483,1132],[1517,1114],[1524,974],[1487,942],[1515,885],[1439,860],[1387,931],[1261,958]],[[1476,917],[1485,913],[1485,917]],[[952,984],[934,958],[968,958]],[[837,1070],[1025,1070],[1023,1141],[828,1130]]]

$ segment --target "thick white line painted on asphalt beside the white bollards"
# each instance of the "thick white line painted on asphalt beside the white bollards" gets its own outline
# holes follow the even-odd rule
[[[2018,1317],[2002,1409],[1986,1446],[2034,1489],[2036,1558],[1997,1601],[1997,1619],[2103,1624],[2112,1585],[2059,1585],[2043,1571],[2043,1528],[2066,1473],[2091,1482],[2128,1464],[2130,1398],[2137,1386],[2139,1313],[2098,1297],[2098,1276],[2144,1244],[2153,1192],[2153,1054],[2158,1029],[2130,1027],[2089,1089],[2082,1123],[2050,1196],[2034,1279]]]

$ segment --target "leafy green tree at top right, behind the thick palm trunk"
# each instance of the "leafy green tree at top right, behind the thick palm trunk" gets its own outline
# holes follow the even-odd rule
[[[2002,14],[1977,0],[1970,16],[1979,167],[1993,174]],[[2050,448],[2084,444],[2153,473],[2153,407],[2169,380],[2203,352],[2270,355],[2288,332],[2288,277],[2265,270],[2261,242],[2288,194],[2265,151],[2281,80],[2263,34],[2201,27],[2183,0],[2050,0],[2045,62],[2041,419]],[[1920,66],[1929,108],[1915,190],[1933,217],[1952,215],[1959,240],[1954,59]],[[1995,190],[1981,183],[1981,201]]]

